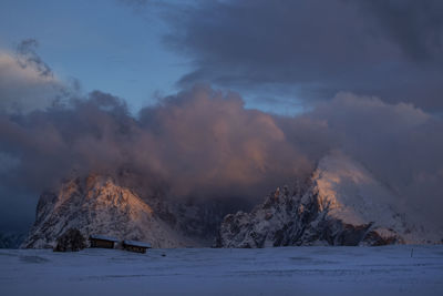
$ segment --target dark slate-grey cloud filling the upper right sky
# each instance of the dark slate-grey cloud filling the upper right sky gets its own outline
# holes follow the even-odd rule
[[[182,85],[338,91],[443,110],[441,1],[199,1],[169,18],[166,43],[190,57]]]

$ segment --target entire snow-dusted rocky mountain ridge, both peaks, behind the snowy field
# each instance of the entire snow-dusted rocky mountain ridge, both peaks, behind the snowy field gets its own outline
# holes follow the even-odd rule
[[[401,198],[341,153],[323,157],[292,192],[277,190],[250,213],[225,216],[216,204],[140,198],[110,176],[74,177],[42,194],[22,247],[53,247],[71,227],[150,242],[154,247],[267,247],[441,243],[442,229],[412,221]],[[219,231],[216,232],[217,225]],[[218,234],[217,234],[218,233]]]

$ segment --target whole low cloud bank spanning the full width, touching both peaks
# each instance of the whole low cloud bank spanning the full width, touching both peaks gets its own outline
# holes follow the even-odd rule
[[[411,104],[340,93],[281,118],[247,110],[209,86],[164,98],[137,119],[119,98],[93,92],[70,105],[0,116],[0,187],[35,196],[73,172],[144,184],[142,196],[261,201],[340,150],[442,225],[443,122]],[[128,180],[124,180],[130,176]],[[13,196],[13,195],[11,195]],[[4,198],[4,197],[3,197]]]

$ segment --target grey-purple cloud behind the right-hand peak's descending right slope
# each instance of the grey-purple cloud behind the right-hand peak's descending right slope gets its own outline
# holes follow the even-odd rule
[[[308,114],[328,124],[336,147],[443,227],[443,120],[411,104],[340,93]],[[316,136],[317,137],[317,136]]]

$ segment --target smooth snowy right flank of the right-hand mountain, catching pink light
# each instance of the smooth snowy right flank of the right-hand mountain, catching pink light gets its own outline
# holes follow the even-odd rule
[[[441,243],[442,229],[424,225],[416,214],[361,164],[336,152],[323,157],[313,175],[321,204],[328,215],[343,223],[373,223],[372,228],[398,233],[406,244]]]

